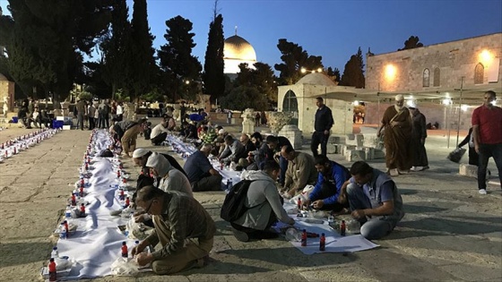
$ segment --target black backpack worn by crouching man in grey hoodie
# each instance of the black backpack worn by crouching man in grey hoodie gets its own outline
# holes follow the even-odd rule
[[[225,196],[225,201],[221,206],[220,218],[232,222],[242,217],[247,208],[245,205],[247,190],[253,181],[243,180],[235,184]]]

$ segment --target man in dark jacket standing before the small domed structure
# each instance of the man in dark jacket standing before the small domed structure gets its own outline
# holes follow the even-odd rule
[[[317,148],[319,144],[321,144],[321,155],[326,155],[326,145],[331,127],[333,126],[333,115],[331,109],[325,106],[325,100],[322,97],[317,97],[316,105],[316,121],[314,122],[314,133],[312,133],[312,142],[310,145],[314,157],[318,155]]]

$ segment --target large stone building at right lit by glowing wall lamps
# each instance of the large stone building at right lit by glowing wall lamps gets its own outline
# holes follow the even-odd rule
[[[396,94],[416,102],[440,128],[468,129],[487,90],[502,97],[502,33],[367,55],[366,123],[377,124]],[[500,102],[498,102],[500,103]],[[500,104],[498,104],[500,105]],[[449,124],[449,125],[448,125]]]

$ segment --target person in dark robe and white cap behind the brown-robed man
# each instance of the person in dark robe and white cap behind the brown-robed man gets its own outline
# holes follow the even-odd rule
[[[425,115],[413,105],[410,107],[411,120],[413,121],[413,132],[411,133],[411,147],[413,151],[413,163],[411,171],[422,171],[428,169],[427,151],[425,150],[425,139],[427,138]]]

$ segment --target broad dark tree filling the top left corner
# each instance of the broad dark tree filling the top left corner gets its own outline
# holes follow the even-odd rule
[[[110,10],[108,0],[10,0],[13,36],[6,46],[14,81],[42,85],[56,103],[66,98]]]

